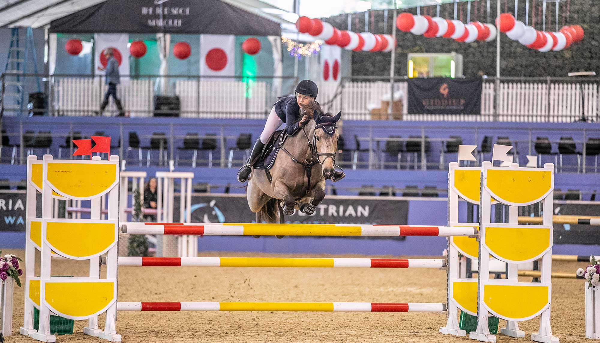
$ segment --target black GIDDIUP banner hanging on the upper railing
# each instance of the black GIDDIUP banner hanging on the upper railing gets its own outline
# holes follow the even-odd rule
[[[409,114],[481,114],[481,77],[409,78]]]

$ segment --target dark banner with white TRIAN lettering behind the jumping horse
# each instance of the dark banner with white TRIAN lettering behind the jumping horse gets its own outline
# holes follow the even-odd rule
[[[256,223],[256,214],[245,197],[192,196],[191,221],[198,223]],[[179,218],[179,198],[175,196],[173,218]],[[322,224],[406,224],[407,201],[325,198],[313,215],[295,211],[286,223]]]

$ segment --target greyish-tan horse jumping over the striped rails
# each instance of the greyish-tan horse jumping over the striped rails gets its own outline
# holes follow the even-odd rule
[[[284,223],[294,210],[311,215],[325,198],[325,180],[333,177],[336,167],[341,111],[336,116],[321,114],[316,102],[301,111],[310,119],[286,138],[271,169],[253,168],[246,198],[257,223]]]

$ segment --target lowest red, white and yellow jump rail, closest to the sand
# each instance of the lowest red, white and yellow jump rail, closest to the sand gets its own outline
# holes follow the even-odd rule
[[[445,303],[389,302],[122,302],[117,311],[443,312]]]

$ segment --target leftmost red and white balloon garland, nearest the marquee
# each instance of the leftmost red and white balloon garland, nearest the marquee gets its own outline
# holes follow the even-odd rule
[[[296,28],[303,34],[310,34],[317,40],[324,41],[325,44],[338,45],[346,50],[389,52],[397,44],[392,35],[338,30],[329,23],[323,23],[319,19],[308,17],[299,17],[296,21]]]

